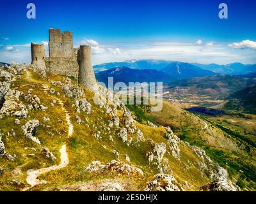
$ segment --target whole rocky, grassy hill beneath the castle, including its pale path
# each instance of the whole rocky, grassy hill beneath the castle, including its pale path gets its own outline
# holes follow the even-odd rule
[[[239,189],[236,176],[169,126],[138,122],[121,101],[96,105],[93,96],[108,94],[104,88],[94,94],[74,78],[27,64],[0,73],[1,191]]]

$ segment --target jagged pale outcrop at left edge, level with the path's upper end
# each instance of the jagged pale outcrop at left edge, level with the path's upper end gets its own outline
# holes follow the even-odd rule
[[[3,107],[0,110],[0,116],[16,116],[28,117],[28,110],[26,106],[20,101],[22,92],[9,89],[4,96]]]

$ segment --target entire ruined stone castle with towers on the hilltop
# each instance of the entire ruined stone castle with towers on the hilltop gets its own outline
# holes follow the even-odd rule
[[[45,56],[44,44],[31,43],[31,64],[45,69],[53,75],[74,77],[79,84],[93,90],[97,83],[91,61],[91,48],[81,45],[73,47],[70,31],[61,33],[60,29],[49,29],[49,57]]]

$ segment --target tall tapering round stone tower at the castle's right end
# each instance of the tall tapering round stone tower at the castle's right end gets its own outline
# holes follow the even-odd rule
[[[77,62],[79,64],[78,83],[84,85],[84,87],[93,91],[97,81],[92,68],[90,46],[80,46],[77,53]]]

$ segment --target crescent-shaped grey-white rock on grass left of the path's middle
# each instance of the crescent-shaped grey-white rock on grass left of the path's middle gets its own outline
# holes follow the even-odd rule
[[[36,128],[38,128],[38,126],[39,126],[38,120],[29,120],[29,122],[24,124],[21,127],[21,129],[23,130],[24,136],[26,136],[26,138],[40,145],[41,142],[38,140],[38,138],[35,137]]]

